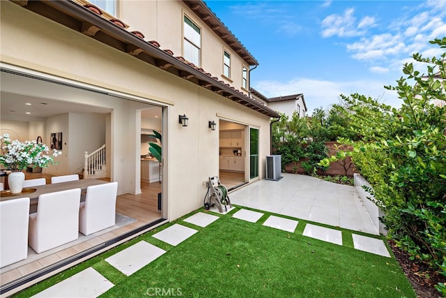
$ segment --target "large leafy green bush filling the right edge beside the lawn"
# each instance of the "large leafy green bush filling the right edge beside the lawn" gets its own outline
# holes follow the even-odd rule
[[[431,43],[445,48],[446,38]],[[401,108],[359,94],[341,96],[362,139],[339,139],[354,150],[338,152],[321,164],[351,156],[385,213],[389,236],[412,260],[446,274],[446,53],[431,59],[414,54],[413,59],[417,66],[426,65],[426,73],[405,64],[406,77],[396,87],[386,87],[397,91]],[[445,294],[445,285],[437,289]]]

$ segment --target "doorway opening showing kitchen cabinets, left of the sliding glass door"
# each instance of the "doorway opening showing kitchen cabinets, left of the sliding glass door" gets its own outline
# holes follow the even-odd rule
[[[220,119],[220,181],[229,190],[248,182],[247,126]]]

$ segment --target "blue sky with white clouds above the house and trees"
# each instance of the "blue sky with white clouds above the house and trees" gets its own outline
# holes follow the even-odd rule
[[[384,86],[397,84],[413,54],[444,51],[429,40],[446,36],[446,0],[206,4],[259,61],[251,87],[267,97],[304,94],[309,115],[339,103],[339,94],[399,107]]]

